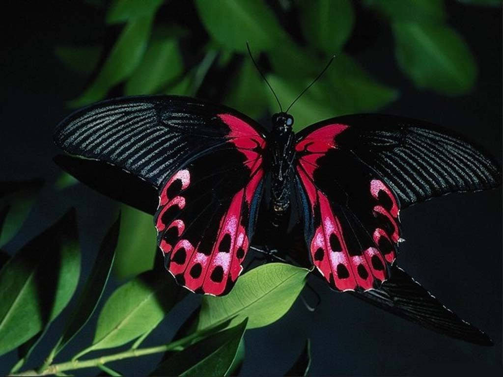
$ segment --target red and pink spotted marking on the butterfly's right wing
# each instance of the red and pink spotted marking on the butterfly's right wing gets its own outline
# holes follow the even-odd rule
[[[336,137],[347,128],[343,124],[324,126],[299,141],[296,145],[300,156],[297,172],[309,199],[312,216],[316,219],[313,237],[308,245],[314,265],[333,288],[340,291],[369,290],[387,278],[386,261],[394,260],[392,242],[396,243],[399,239],[398,205],[382,181],[372,180],[369,194],[376,204],[369,208],[369,212],[386,219],[390,223],[389,228],[392,228],[391,234],[380,227],[367,230],[373,233],[375,245],[365,250],[348,249],[346,232],[351,230],[343,228],[330,204],[330,201],[337,202],[338,198],[329,200],[314,181],[318,158],[330,148],[337,148]],[[379,218],[378,224],[383,222],[382,219]]]

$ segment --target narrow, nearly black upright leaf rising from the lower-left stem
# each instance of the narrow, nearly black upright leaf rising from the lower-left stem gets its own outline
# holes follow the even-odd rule
[[[63,334],[51,352],[51,360],[80,331],[93,315],[103,291],[105,290],[108,276],[110,275],[110,270],[114,262],[115,247],[117,246],[117,239],[119,236],[119,226],[120,216],[112,225],[101,243],[86,285],[80,293],[78,304],[76,304],[73,309],[73,313],[63,330]]]

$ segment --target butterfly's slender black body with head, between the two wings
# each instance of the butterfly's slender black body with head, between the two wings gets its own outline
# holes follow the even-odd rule
[[[282,215],[290,205],[291,167],[295,157],[293,117],[286,113],[275,114],[273,130],[268,137],[268,169],[271,173],[272,210]]]

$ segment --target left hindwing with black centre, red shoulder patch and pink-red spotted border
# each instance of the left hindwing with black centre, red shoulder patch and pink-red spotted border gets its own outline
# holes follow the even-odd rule
[[[179,284],[228,292],[242,271],[260,200],[264,139],[230,114],[218,114],[227,142],[175,172],[159,192],[158,245]]]

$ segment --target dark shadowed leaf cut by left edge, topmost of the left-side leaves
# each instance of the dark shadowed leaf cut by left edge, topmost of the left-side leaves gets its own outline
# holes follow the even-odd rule
[[[0,247],[18,233],[42,189],[43,181],[34,179],[18,182],[0,182]]]

